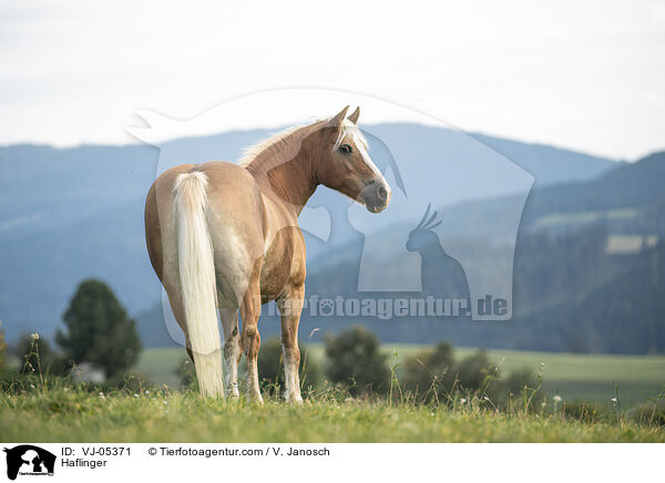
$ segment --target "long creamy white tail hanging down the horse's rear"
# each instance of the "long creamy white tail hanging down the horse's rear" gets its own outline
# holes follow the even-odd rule
[[[202,394],[216,397],[224,393],[224,386],[206,187],[205,174],[194,172],[181,174],[173,191],[181,290],[198,388]]]

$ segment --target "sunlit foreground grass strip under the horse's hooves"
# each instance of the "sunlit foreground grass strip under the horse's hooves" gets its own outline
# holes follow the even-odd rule
[[[665,442],[665,431],[630,420],[583,423],[561,413],[499,413],[458,404],[345,401],[303,407],[225,402],[157,390],[90,393],[38,388],[0,394],[0,441],[31,442]]]

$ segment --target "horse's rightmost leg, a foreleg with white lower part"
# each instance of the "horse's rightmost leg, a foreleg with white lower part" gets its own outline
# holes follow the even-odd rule
[[[303,299],[305,286],[289,287],[284,297],[277,300],[277,307],[282,315],[282,346],[284,350],[284,370],[286,392],[284,394],[288,402],[301,402],[300,378],[300,349],[298,348],[298,323],[303,311]]]

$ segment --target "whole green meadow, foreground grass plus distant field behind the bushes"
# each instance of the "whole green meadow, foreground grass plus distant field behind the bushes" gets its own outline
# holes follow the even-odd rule
[[[399,372],[400,361],[422,348],[382,350]],[[456,351],[460,357],[472,353]],[[658,395],[664,357],[490,351],[505,371],[542,368],[543,386],[529,409],[523,394],[508,407],[461,395],[441,404],[416,404],[397,391],[393,398],[365,399],[332,387],[307,393],[303,405],[270,394],[265,394],[264,405],[244,398],[203,399],[178,388],[176,370],[183,357],[177,348],[144,351],[135,369],[151,382],[127,380],[121,389],[59,379],[44,382],[37,374],[6,386],[0,393],[0,441],[665,442],[665,408],[659,404],[665,400],[636,412],[627,399],[635,405]],[[323,347],[310,347],[307,357],[323,358]],[[615,382],[618,404],[611,401]],[[561,399],[553,395],[556,390]],[[580,405],[577,399],[596,404]]]

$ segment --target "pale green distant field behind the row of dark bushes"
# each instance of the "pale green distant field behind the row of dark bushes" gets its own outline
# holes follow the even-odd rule
[[[386,345],[383,350],[390,356],[391,363],[403,360],[427,346]],[[474,349],[456,348],[459,358],[473,352]],[[397,358],[393,359],[393,353]],[[533,372],[543,367],[543,391],[559,393],[564,401],[585,400],[608,403],[614,398],[614,382],[620,389],[624,407],[644,402],[649,397],[657,397],[665,388],[664,356],[607,356],[607,354],[571,354],[551,352],[523,352],[509,350],[490,350],[490,359],[498,363],[503,373],[528,368]],[[156,384],[167,383],[176,387],[176,368],[185,357],[185,351],[175,349],[145,350],[136,367],[139,372],[150,377]],[[323,347],[311,346],[307,357],[321,359]],[[259,368],[260,371],[260,368]],[[398,370],[399,372],[399,370]]]

